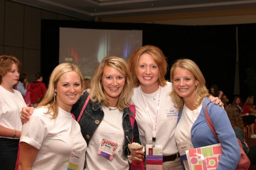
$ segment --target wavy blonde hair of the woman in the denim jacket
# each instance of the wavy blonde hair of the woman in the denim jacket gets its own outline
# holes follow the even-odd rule
[[[123,110],[126,107],[129,107],[131,97],[133,94],[133,82],[131,73],[128,69],[128,64],[123,58],[109,56],[105,57],[97,70],[94,73],[94,76],[91,80],[91,91],[90,91],[90,99],[93,103],[98,102],[102,103],[104,107],[109,107],[108,100],[104,94],[104,89],[102,85],[102,75],[104,68],[106,66],[112,67],[119,71],[122,76],[125,77],[125,85],[124,88],[118,98],[118,109]]]

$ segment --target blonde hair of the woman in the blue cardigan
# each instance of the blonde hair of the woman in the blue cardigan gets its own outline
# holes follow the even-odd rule
[[[198,81],[198,85],[195,88],[195,103],[194,103],[194,106],[198,107],[201,104],[203,98],[209,96],[208,89],[205,86],[204,76],[202,75],[201,70],[199,69],[199,67],[196,65],[195,62],[193,62],[190,59],[179,59],[173,64],[170,70],[171,82],[174,82],[173,74],[175,69],[177,69],[178,67],[189,70],[195,76],[195,79]],[[172,83],[172,91],[170,95],[172,97],[172,100],[174,101],[175,107],[178,108],[179,110],[182,110],[184,101],[182,100],[182,97],[180,97],[175,92],[173,83]]]

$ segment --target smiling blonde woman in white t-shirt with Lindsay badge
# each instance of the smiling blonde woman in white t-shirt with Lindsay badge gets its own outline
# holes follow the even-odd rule
[[[23,125],[19,170],[83,170],[87,145],[70,113],[81,97],[82,81],[74,64],[61,63],[53,70],[45,97]]]

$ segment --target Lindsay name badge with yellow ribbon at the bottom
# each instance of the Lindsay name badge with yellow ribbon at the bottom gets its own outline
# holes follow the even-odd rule
[[[81,151],[72,151],[67,170],[79,170],[79,165],[82,159]]]

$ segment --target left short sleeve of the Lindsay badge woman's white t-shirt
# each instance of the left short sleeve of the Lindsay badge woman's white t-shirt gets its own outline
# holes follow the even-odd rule
[[[20,142],[25,142],[40,150],[43,141],[47,137],[47,126],[37,116],[31,116],[30,120],[23,125]]]

